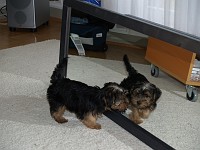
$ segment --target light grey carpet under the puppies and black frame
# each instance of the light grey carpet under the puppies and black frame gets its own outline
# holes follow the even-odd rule
[[[58,55],[58,40],[0,51],[0,149],[151,149],[105,116],[98,120],[100,131],[86,128],[68,112],[66,124],[50,117],[46,89]],[[200,149],[199,99],[187,101],[185,86],[165,73],[154,78],[150,66],[133,65],[163,92],[141,126],[175,149]],[[120,82],[126,76],[121,61],[70,56],[68,67],[69,78],[90,85]]]

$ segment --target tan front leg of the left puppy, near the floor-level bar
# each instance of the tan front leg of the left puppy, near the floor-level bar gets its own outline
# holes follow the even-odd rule
[[[89,113],[81,121],[88,128],[91,128],[91,129],[101,129],[101,125],[98,124],[98,123],[96,123],[96,121],[97,121],[97,115],[94,116],[94,115],[92,115],[92,113]]]

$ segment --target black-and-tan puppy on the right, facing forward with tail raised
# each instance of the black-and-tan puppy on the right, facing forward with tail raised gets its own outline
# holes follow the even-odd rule
[[[156,108],[156,102],[162,92],[131,66],[127,55],[124,55],[123,61],[128,72],[128,77],[120,85],[129,91],[130,109],[132,111],[129,114],[130,120],[136,124],[140,124]]]

